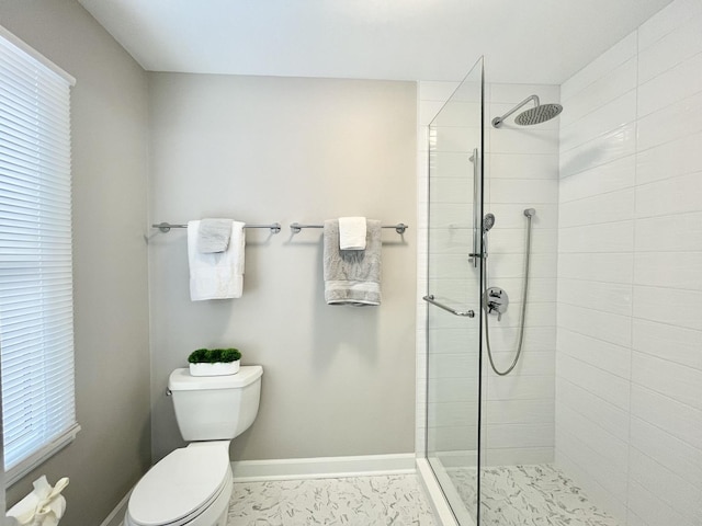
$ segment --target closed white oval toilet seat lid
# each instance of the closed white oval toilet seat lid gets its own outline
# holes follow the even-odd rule
[[[128,504],[131,524],[189,524],[230,488],[228,448],[220,442],[192,446],[166,456],[137,483]]]

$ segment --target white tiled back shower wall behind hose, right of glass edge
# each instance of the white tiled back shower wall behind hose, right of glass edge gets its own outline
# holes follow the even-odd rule
[[[508,376],[489,367],[484,338],[484,466],[550,462],[554,456],[558,119],[518,126],[513,115],[500,128],[490,124],[532,94],[542,104],[559,100],[554,85],[486,84],[485,211],[496,218],[488,233],[488,286],[503,288],[510,300],[501,321],[488,319],[492,356],[501,370],[518,348],[528,224],[523,210],[536,214],[522,354]],[[524,108],[532,106],[530,102]]]

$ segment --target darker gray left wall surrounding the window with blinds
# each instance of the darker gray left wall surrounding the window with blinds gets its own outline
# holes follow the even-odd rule
[[[76,442],[8,491],[67,476],[61,523],[97,525],[150,460],[147,78],[72,0],[3,0],[0,24],[77,79],[72,91]],[[99,489],[99,491],[97,491]]]

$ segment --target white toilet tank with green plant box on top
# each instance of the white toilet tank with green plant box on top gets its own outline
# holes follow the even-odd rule
[[[226,376],[173,370],[168,388],[183,439],[230,441],[248,430],[259,411],[262,375],[260,365],[241,366]]]

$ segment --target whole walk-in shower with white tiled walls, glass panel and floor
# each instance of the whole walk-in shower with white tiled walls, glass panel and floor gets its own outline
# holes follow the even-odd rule
[[[701,21],[673,0],[559,85],[483,90],[482,65],[450,99],[420,83],[424,113],[449,100],[429,145],[417,461],[442,526],[702,524],[702,41],[683,37]],[[563,113],[544,122],[559,107],[533,95]],[[500,376],[486,327],[506,371],[524,297]]]

